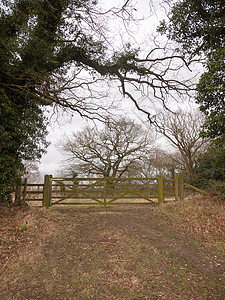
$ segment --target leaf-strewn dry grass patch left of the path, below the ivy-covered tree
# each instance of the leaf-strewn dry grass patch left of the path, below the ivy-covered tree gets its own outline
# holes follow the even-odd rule
[[[39,235],[54,234],[53,223],[44,208],[0,207],[0,266],[17,256],[21,247],[32,244]]]

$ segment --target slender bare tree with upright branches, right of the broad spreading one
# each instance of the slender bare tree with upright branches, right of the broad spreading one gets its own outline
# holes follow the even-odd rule
[[[188,181],[193,177],[196,159],[208,143],[200,135],[204,122],[204,114],[198,109],[162,113],[157,120],[157,131],[179,151],[173,155],[173,160],[180,170],[183,169]]]

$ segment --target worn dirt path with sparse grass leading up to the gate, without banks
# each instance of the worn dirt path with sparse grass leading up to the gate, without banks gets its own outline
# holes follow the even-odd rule
[[[53,207],[0,299],[225,299],[225,256],[148,206]]]

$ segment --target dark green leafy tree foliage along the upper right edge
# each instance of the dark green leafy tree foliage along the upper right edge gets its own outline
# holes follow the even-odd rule
[[[206,72],[197,85],[197,103],[206,113],[205,135],[225,141],[225,2],[175,2],[169,21],[158,29],[178,42],[183,54],[204,58]],[[203,56],[202,56],[203,55]]]

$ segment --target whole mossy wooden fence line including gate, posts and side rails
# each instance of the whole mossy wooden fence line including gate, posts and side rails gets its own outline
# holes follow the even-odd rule
[[[53,178],[22,185],[22,198],[39,206],[161,204],[184,199],[183,174],[156,178]]]

